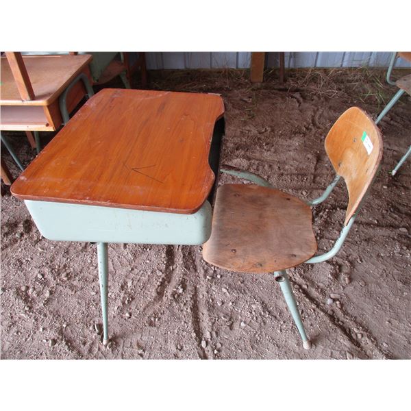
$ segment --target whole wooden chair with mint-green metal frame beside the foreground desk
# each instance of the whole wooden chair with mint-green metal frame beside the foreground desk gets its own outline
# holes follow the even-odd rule
[[[262,177],[223,166],[221,172],[249,179],[257,185],[225,184],[218,188],[212,233],[203,245],[204,260],[214,266],[237,272],[274,274],[306,349],[311,347],[311,342],[286,270],[336,255],[377,172],[382,158],[382,137],[371,118],[353,107],[330,129],[325,138],[325,151],[336,177],[321,197],[308,203],[272,188]],[[343,229],[330,251],[314,256],[317,245],[310,206],[324,201],[340,177],[345,179],[349,192]]]

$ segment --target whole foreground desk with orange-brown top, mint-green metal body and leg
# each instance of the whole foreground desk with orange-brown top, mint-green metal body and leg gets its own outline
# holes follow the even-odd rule
[[[210,237],[223,100],[104,89],[12,185],[50,240],[97,242],[108,343],[108,242],[201,245]]]

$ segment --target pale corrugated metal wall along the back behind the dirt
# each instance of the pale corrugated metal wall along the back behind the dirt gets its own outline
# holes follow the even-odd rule
[[[147,69],[247,69],[250,66],[251,53],[173,53],[149,52]],[[266,54],[266,66],[279,66],[279,53]],[[390,63],[391,53],[386,52],[292,52],[286,53],[286,67],[386,67]],[[398,59],[396,67],[411,67],[403,59]]]

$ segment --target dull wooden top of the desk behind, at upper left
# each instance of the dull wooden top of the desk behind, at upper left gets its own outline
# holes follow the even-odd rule
[[[34,100],[23,101],[5,57],[1,60],[1,105],[50,105],[92,60],[92,55],[23,55]]]

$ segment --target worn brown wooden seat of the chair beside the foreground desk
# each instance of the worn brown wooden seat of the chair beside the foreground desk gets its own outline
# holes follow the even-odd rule
[[[266,273],[314,256],[310,207],[297,197],[253,184],[217,190],[212,234],[203,258],[230,271]]]

